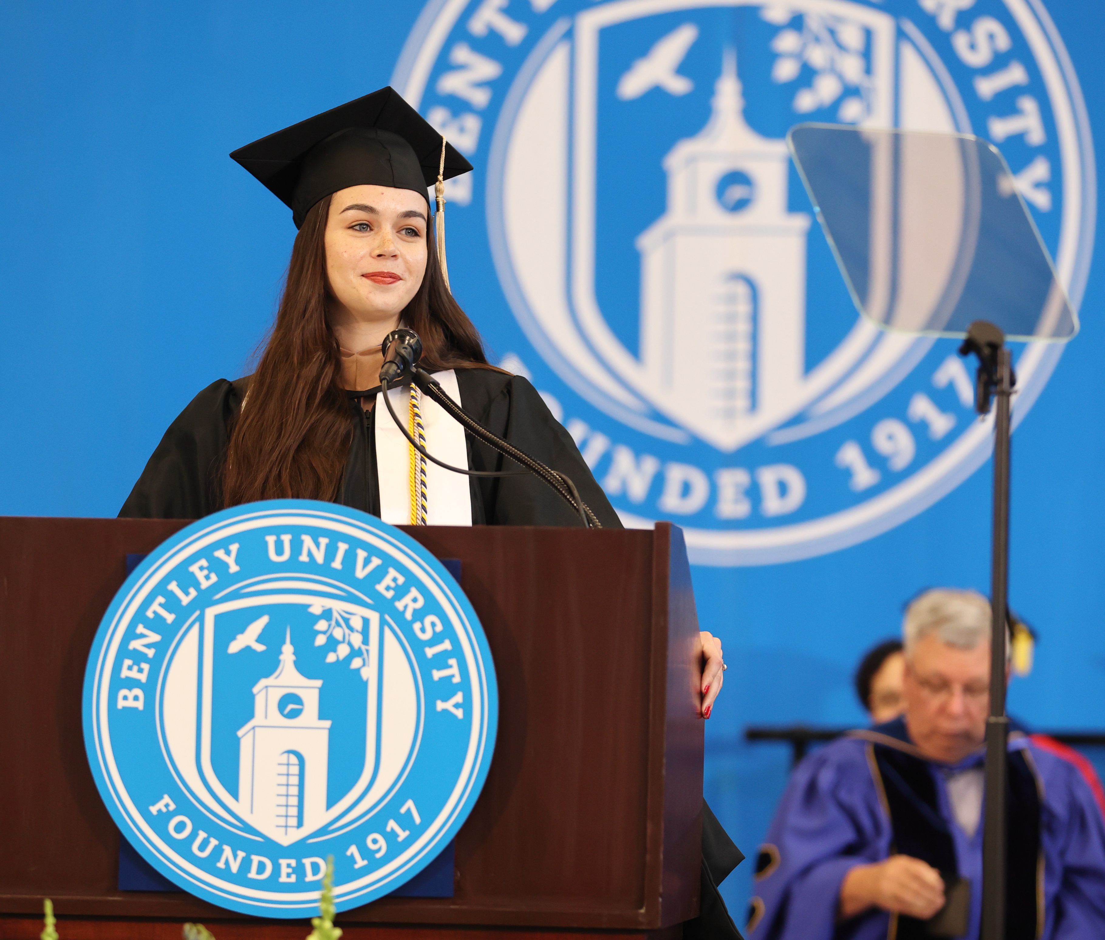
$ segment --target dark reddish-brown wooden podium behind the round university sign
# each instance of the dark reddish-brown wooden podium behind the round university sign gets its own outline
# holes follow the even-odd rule
[[[120,891],[119,833],[85,757],[81,695],[127,553],[185,522],[0,518],[0,940],[302,940],[307,921],[182,893]],[[670,938],[698,909],[703,722],[683,535],[408,528],[461,585],[491,644],[499,721],[455,843],[452,898],[345,911],[346,940]]]

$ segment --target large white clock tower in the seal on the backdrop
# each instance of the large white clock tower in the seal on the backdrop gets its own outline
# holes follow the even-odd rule
[[[708,124],[664,158],[667,209],[636,239],[656,404],[726,452],[788,418],[806,377],[810,216],[787,209],[787,141],[744,107],[727,51]]]

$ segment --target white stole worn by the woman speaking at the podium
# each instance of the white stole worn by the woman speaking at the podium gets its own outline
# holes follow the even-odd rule
[[[456,372],[436,372],[434,379],[457,404],[461,388]],[[399,420],[407,426],[410,413],[410,389],[407,385],[389,389],[388,395]],[[376,395],[379,399],[379,394]],[[392,526],[407,526],[411,520],[410,442],[396,426],[382,401],[372,404],[376,410],[376,475],[380,484],[380,518]],[[419,408],[425,429],[425,450],[439,461],[454,467],[469,468],[469,451],[464,427],[449,415],[432,398],[423,394]],[[471,526],[472,492],[469,477],[427,461],[427,505],[429,526]]]

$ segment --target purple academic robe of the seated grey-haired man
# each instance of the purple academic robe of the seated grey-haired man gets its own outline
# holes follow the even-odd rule
[[[1042,792],[1044,860],[1041,940],[1105,938],[1105,821],[1092,790],[1069,761],[1023,736]],[[979,751],[951,770],[980,767]],[[977,938],[982,900],[982,823],[972,837],[955,823],[939,765],[929,763],[940,815],[951,833],[959,875],[970,879]],[[985,810],[983,810],[985,814]],[[891,821],[869,765],[866,741],[841,738],[806,758],[791,775],[757,865],[749,940],[885,940],[890,915],[872,909],[836,922],[841,881],[855,865],[890,854]]]

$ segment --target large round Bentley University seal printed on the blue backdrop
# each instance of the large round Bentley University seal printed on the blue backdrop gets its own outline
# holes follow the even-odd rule
[[[859,317],[796,123],[988,138],[1081,299],[1093,152],[1039,0],[441,0],[393,84],[476,166],[454,279],[503,365],[699,563],[871,538],[989,454],[955,344]],[[1018,419],[1059,355],[1020,351]]]

